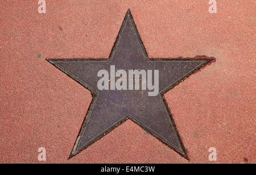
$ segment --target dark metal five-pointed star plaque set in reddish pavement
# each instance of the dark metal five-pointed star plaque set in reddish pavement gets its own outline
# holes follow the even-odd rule
[[[108,59],[47,60],[90,90],[93,97],[69,158],[89,147],[127,119],[137,123],[181,156],[188,158],[163,94],[207,65],[213,58],[199,56],[193,59],[149,59],[128,10]],[[109,72],[109,81],[100,81],[100,70]],[[127,72],[126,76],[122,76],[121,86],[124,85],[125,78],[129,77],[129,70],[145,70],[147,79],[142,80],[140,74],[139,88],[136,89],[135,85],[130,87],[129,84],[129,87],[122,86],[121,89],[113,83],[121,78],[120,72],[119,76],[115,73],[118,70],[122,70],[123,74]],[[157,70],[158,77],[154,77],[153,73],[151,78],[155,79],[149,81],[148,73],[152,72],[148,70]],[[102,82],[106,84],[104,88]],[[135,79],[133,82],[135,83]],[[141,88],[142,83],[148,88]],[[158,87],[155,88],[158,91],[155,94],[152,93],[152,88],[149,88],[154,83],[158,83]]]

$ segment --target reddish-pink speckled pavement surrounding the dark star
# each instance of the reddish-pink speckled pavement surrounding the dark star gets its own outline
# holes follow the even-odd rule
[[[256,163],[255,2],[39,6],[0,2],[0,163]],[[164,95],[189,160],[131,120],[68,160],[92,95],[46,58],[108,57],[127,9],[148,57],[216,58]]]

